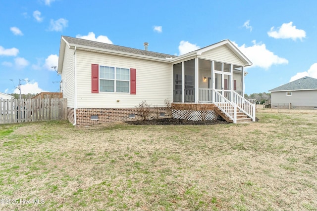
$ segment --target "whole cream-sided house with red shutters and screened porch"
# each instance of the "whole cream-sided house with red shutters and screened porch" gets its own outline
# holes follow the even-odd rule
[[[144,44],[141,50],[61,37],[57,72],[71,123],[139,120],[144,101],[150,118],[255,121],[254,104],[243,98],[244,69],[252,63],[232,42],[181,56],[148,51]]]

